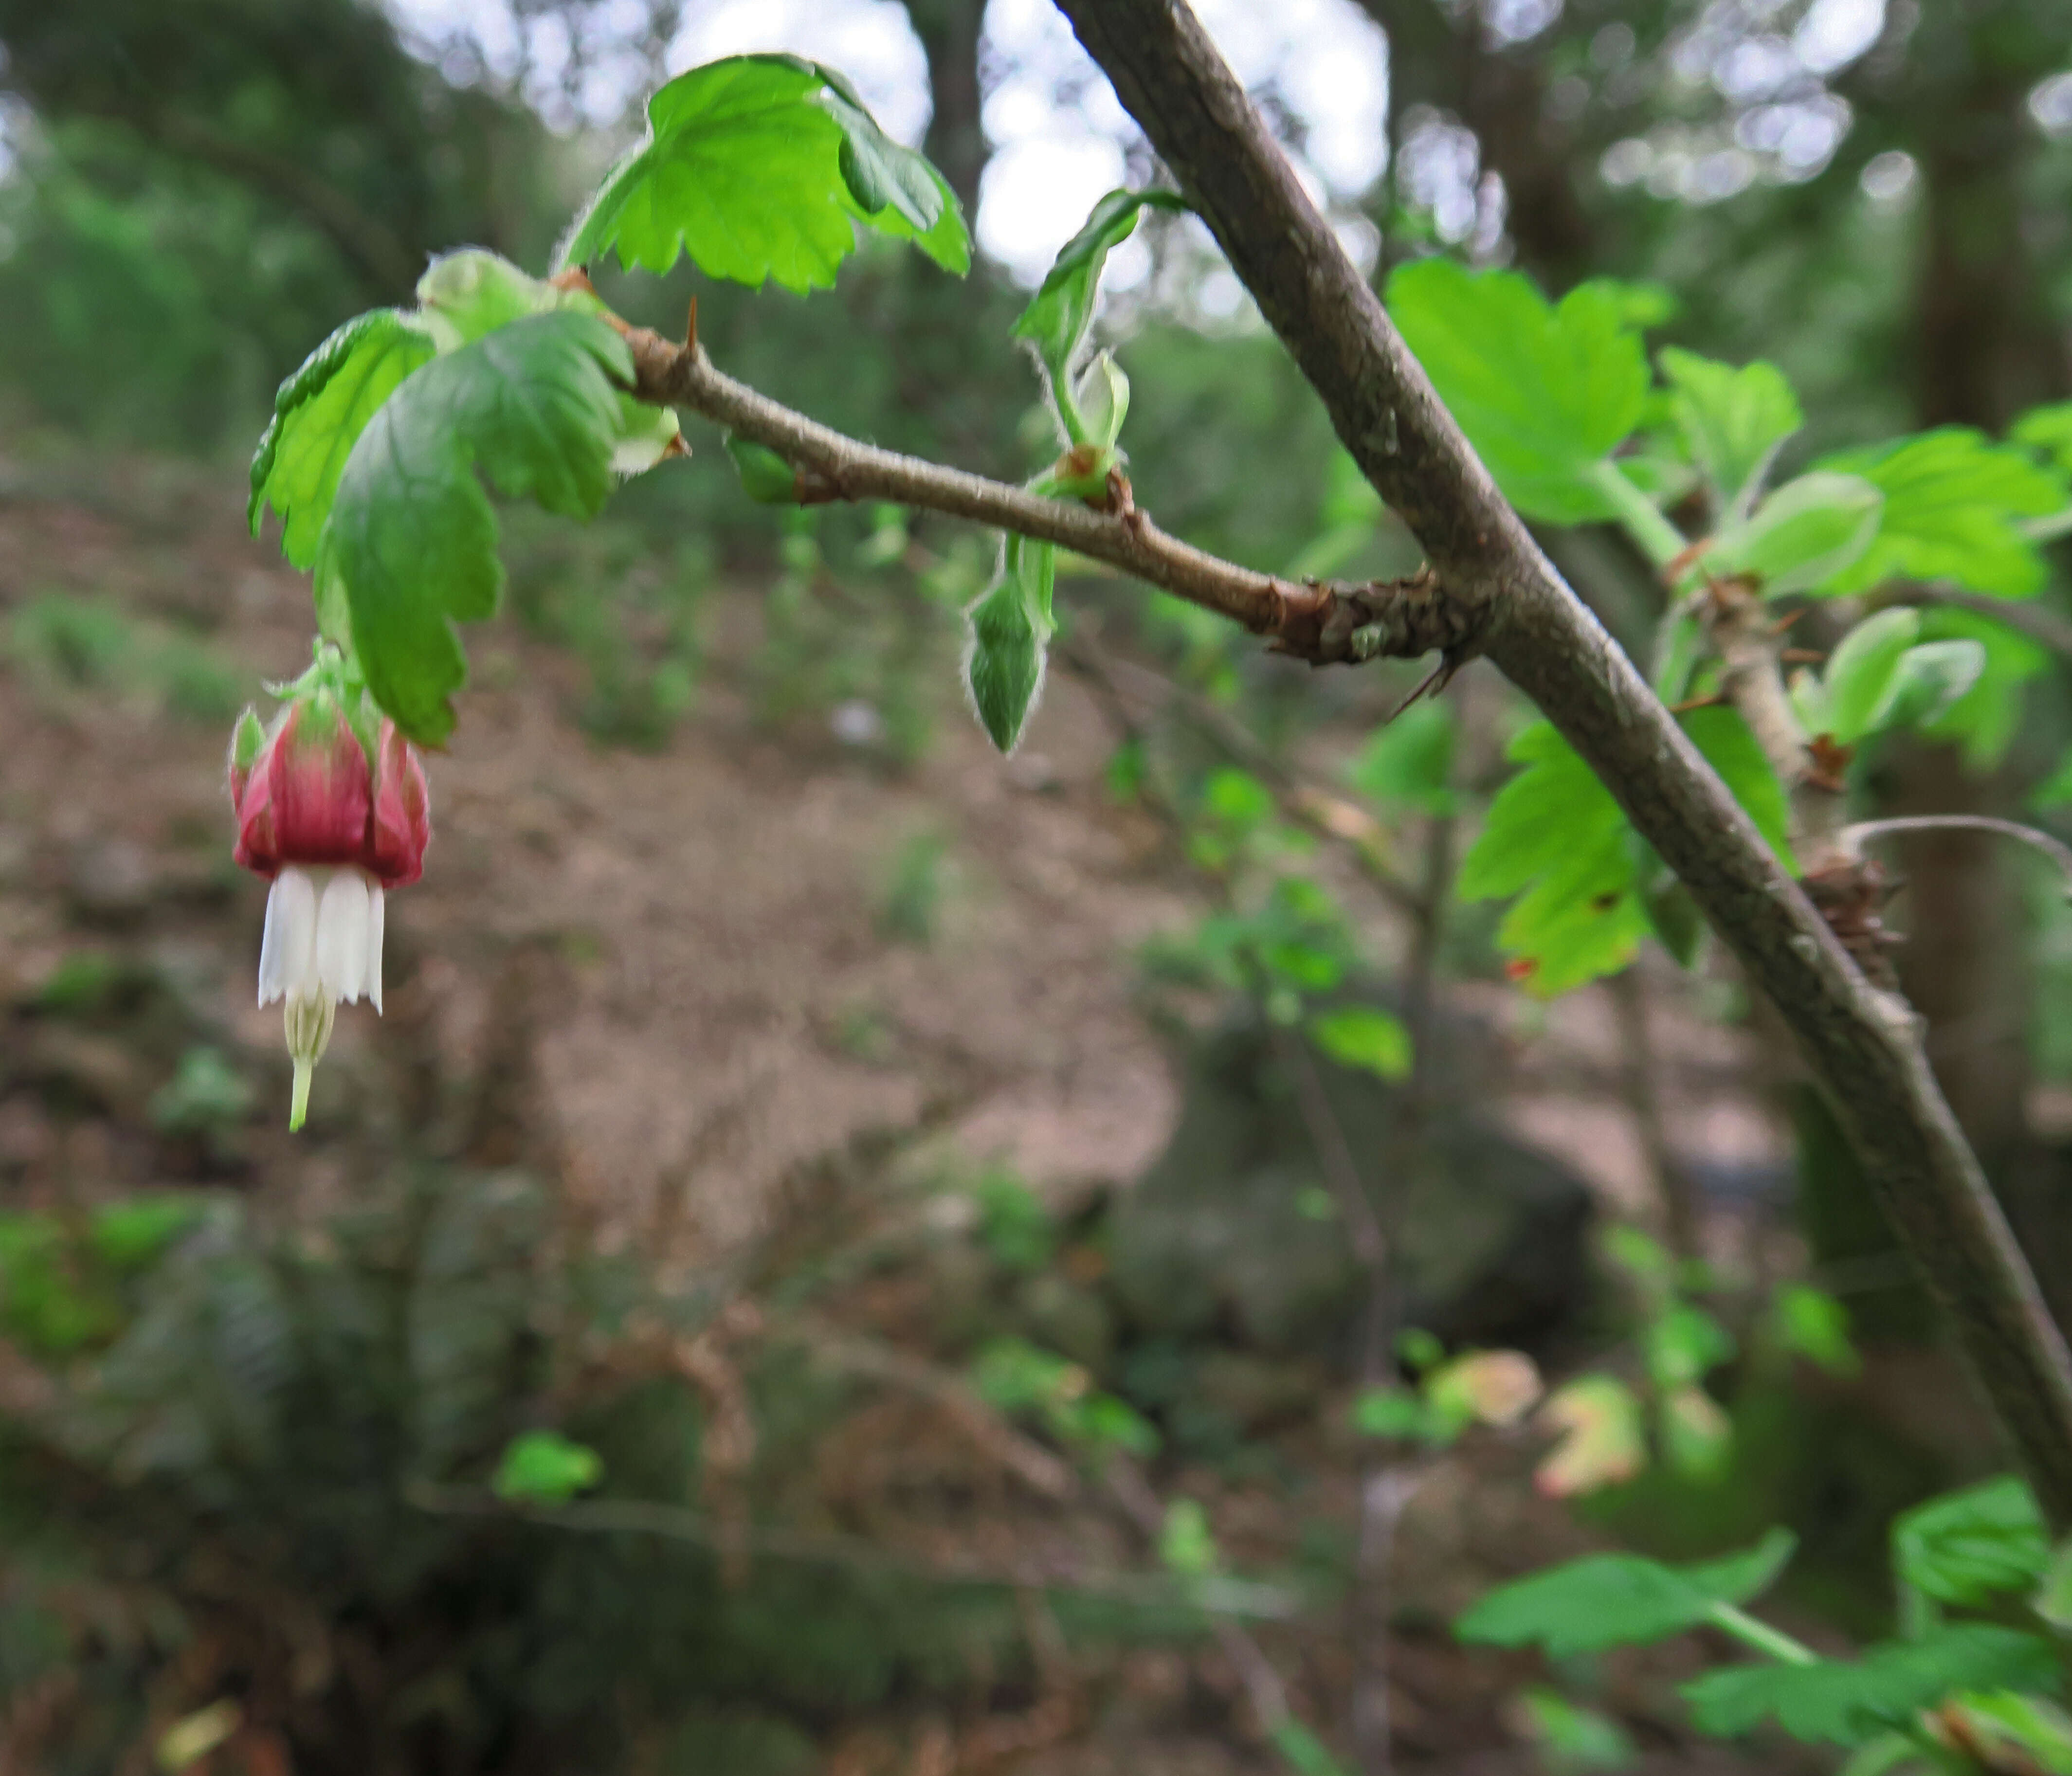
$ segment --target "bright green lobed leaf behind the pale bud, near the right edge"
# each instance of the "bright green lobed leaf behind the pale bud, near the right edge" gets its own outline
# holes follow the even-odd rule
[[[1861,475],[1886,495],[1871,547],[1823,582],[1823,595],[1846,597],[1894,578],[1952,580],[2008,599],[2043,589],[2049,570],[2022,520],[2062,512],[2066,483],[2016,446],[1948,425],[1819,466]]]

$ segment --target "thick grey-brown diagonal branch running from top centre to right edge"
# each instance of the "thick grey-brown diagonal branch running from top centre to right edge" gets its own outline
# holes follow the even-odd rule
[[[1912,1018],[1871,989],[1662,703],[1554,574],[1380,300],[1177,0],[1059,0],[1179,178],[1341,441],[1484,651],[1554,721],[1784,1013],[1999,1415],[2045,1513],[2072,1523],[2072,1359]]]

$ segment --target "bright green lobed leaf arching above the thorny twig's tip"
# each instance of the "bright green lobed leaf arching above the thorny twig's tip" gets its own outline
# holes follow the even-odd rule
[[[678,255],[711,278],[777,280],[804,294],[835,282],[856,222],[970,267],[955,197],[920,155],[889,141],[839,75],[796,56],[729,56],[649,99],[646,139],[597,189],[562,265],[615,251],[628,269]]]

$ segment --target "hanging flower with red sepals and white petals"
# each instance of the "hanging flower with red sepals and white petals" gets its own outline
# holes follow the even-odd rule
[[[286,694],[271,729],[247,709],[230,736],[230,802],[232,856],[274,883],[259,1003],[284,1001],[298,1129],[338,1005],[365,997],[381,1011],[385,895],[425,872],[431,812],[416,748],[375,719],[336,655],[319,653]]]

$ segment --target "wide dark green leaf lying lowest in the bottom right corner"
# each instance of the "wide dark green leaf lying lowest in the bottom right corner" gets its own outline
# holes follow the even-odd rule
[[[2049,1641],[1962,1623],[1875,1645],[1861,1660],[1726,1666],[1687,1683],[1682,1697],[1697,1728],[1722,1739],[1776,1718],[1792,1739],[1861,1745],[1954,1691],[2049,1689],[2055,1681]]]

